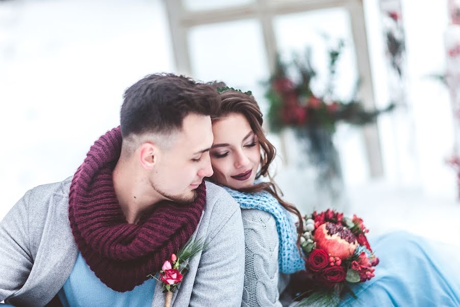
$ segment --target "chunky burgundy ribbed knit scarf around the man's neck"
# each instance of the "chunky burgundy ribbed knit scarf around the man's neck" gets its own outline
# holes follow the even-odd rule
[[[138,224],[128,224],[112,181],[121,144],[117,127],[91,146],[72,180],[68,213],[75,242],[90,269],[109,288],[125,292],[159,271],[187,243],[200,220],[206,188],[203,181],[189,205],[163,202]]]

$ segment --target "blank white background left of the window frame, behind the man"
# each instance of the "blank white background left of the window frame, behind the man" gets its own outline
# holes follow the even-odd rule
[[[160,1],[0,3],[0,218],[72,176],[129,85],[173,70],[165,18]]]

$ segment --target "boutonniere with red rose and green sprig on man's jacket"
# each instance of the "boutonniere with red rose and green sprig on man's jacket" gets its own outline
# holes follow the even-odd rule
[[[206,248],[203,239],[191,240],[185,246],[178,250],[177,254],[171,254],[171,257],[165,260],[160,270],[160,279],[154,274],[147,277],[155,278],[162,283],[165,295],[165,307],[171,307],[172,297],[177,286],[182,282],[183,275],[189,271],[189,259]]]

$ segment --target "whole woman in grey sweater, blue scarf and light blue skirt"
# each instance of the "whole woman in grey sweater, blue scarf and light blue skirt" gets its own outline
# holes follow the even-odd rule
[[[269,175],[275,148],[265,138],[254,97],[227,90],[221,93],[221,100],[220,112],[212,118],[211,180],[224,186],[242,208],[246,253],[242,305],[289,304],[292,298],[289,300],[287,291],[281,295],[288,274],[304,269],[302,218],[280,198]],[[258,181],[260,177],[269,182]],[[288,211],[297,216],[296,228]],[[373,247],[380,257],[376,277],[357,284],[353,290],[358,299],[345,298],[343,304],[460,305],[460,278],[438,265],[442,262],[433,260],[427,253],[430,247],[419,237],[389,234]]]

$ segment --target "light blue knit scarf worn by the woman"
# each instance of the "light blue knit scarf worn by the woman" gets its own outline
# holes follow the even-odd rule
[[[284,274],[304,270],[304,259],[298,253],[297,232],[289,212],[267,191],[245,193],[223,187],[243,209],[259,209],[273,215],[280,242],[278,264]]]

